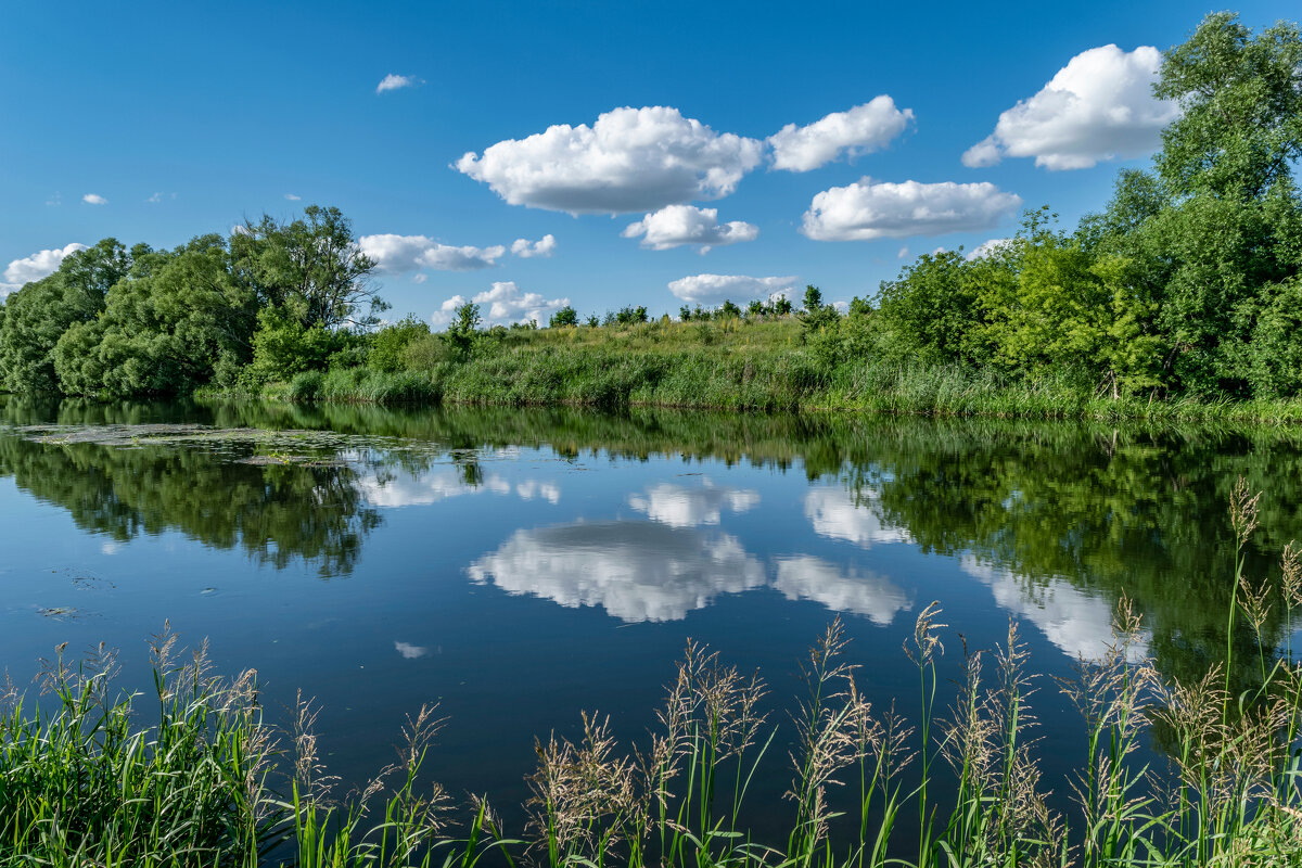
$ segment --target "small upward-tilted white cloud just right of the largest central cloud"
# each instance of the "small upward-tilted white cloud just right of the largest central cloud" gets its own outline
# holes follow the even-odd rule
[[[871,154],[904,133],[911,120],[911,108],[900,111],[894,100],[883,94],[848,112],[832,112],[809,126],[788,124],[768,137],[773,147],[773,168],[809,172],[842,152],[849,156]]]

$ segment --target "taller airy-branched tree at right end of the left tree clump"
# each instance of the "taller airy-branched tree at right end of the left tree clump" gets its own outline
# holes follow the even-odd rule
[[[260,307],[283,308],[305,328],[374,325],[388,308],[371,281],[376,263],[339,208],[309,206],[289,223],[268,215],[246,221],[230,236],[230,258]]]

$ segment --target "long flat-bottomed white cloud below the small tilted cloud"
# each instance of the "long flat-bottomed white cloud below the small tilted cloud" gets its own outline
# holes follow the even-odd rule
[[[872,241],[979,232],[1016,211],[1021,197],[990,182],[875,183],[862,178],[814,197],[801,232],[815,241]]]

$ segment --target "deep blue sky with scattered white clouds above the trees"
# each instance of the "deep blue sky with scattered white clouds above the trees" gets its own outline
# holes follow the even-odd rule
[[[1160,52],[1212,9],[9,3],[0,294],[104,237],[315,203],[353,221],[391,319],[872,297],[1026,208],[1103,208],[1178,115]]]

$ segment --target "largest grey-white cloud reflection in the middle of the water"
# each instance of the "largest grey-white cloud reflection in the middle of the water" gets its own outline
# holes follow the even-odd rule
[[[721,593],[764,584],[764,567],[727,534],[651,522],[519,530],[469,567],[478,583],[622,621],[681,621]]]

